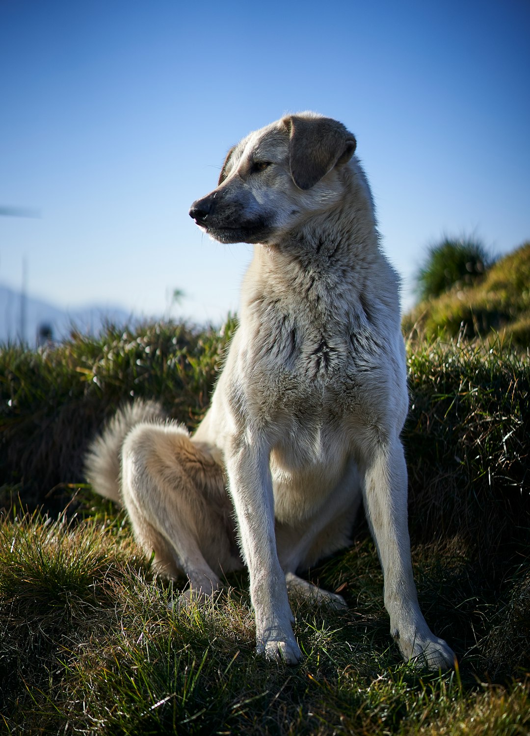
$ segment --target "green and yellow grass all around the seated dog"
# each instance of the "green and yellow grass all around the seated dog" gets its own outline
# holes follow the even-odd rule
[[[235,322],[113,328],[0,352],[0,726],[7,734],[530,732],[530,367],[501,340],[409,341],[414,574],[459,670],[414,671],[388,633],[366,523],[311,571],[347,612],[292,601],[305,659],[255,657],[244,574],[215,604],[168,607],[81,456],[124,398],[196,425]],[[0,727],[0,732],[1,732]]]

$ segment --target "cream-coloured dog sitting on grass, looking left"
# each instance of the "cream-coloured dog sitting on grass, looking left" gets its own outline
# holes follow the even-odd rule
[[[431,670],[454,654],[417,601],[400,431],[408,410],[397,275],[343,124],[299,113],[228,152],[190,216],[221,243],[254,244],[239,325],[193,436],[155,402],[122,408],[91,445],[86,475],[122,503],[160,574],[184,598],[244,563],[256,645],[295,664],[288,590],[341,596],[300,578],[344,548],[361,500],[384,572],[390,632]]]

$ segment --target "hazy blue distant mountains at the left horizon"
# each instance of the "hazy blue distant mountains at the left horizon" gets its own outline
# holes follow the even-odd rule
[[[19,342],[22,338],[27,344],[35,345],[43,342],[44,338],[39,336],[49,330],[54,340],[60,340],[72,328],[96,334],[105,322],[125,325],[136,321],[130,312],[117,306],[88,305],[65,311],[29,295],[23,305],[20,291],[0,285],[0,342]]]

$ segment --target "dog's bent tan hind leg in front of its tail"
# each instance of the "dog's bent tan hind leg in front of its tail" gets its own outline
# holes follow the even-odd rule
[[[222,572],[241,567],[222,467],[185,428],[133,428],[122,448],[121,484],[136,539],[155,552],[158,572],[188,577],[188,597],[211,595]]]

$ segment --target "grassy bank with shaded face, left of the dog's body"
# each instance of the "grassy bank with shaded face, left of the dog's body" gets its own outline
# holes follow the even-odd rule
[[[186,325],[108,328],[56,347],[0,352],[0,505],[15,492],[56,513],[82,481],[82,453],[116,406],[158,397],[193,428],[208,399],[233,319],[220,333]],[[3,495],[3,496],[2,496]]]

